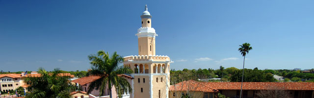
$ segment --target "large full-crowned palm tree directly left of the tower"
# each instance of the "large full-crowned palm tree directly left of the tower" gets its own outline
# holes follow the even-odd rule
[[[103,96],[106,86],[109,88],[109,95],[112,98],[111,88],[114,85],[117,95],[122,98],[125,92],[132,92],[132,88],[127,79],[120,77],[119,74],[130,74],[133,71],[128,67],[118,66],[123,62],[122,56],[114,52],[109,58],[108,52],[100,50],[97,55],[89,55],[90,64],[92,65],[91,71],[86,76],[98,75],[101,78],[91,82],[88,87],[87,93],[91,93],[94,89],[99,90],[99,95]]]

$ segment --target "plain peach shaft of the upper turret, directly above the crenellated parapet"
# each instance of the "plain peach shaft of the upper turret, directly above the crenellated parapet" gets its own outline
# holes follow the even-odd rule
[[[150,46],[152,46],[152,50],[150,49]],[[155,49],[155,38],[138,38],[138,55],[156,55]]]

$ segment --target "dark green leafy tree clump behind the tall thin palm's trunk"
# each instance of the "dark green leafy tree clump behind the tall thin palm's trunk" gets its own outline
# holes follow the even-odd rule
[[[232,82],[240,82],[242,77],[242,70],[237,70],[230,79]],[[255,68],[244,69],[243,82],[275,82],[275,78],[271,73],[264,73],[262,70]]]

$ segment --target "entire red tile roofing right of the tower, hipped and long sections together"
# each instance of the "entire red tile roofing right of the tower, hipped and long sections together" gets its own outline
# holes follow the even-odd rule
[[[191,80],[189,80],[191,81]],[[193,81],[193,80],[192,80]],[[180,82],[176,85],[179,85],[179,88],[186,81]],[[197,85],[196,85],[197,84]],[[199,84],[205,85],[205,88]],[[185,83],[183,85],[183,90],[186,91],[188,86],[191,87],[201,87],[202,89],[216,89],[216,90],[240,90],[241,82],[196,82]],[[178,88],[178,87],[176,87]],[[314,91],[314,82],[243,82],[243,90],[311,90]],[[174,85],[170,86],[170,91],[180,91],[174,89]],[[191,91],[191,90],[190,90]],[[192,90],[192,91],[200,91],[200,90]],[[206,90],[203,90],[204,92]]]

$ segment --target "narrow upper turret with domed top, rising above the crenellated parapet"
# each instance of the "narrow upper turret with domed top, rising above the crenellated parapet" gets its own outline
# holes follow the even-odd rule
[[[141,15],[142,27],[137,29],[138,55],[156,55],[155,37],[158,36],[152,27],[152,16],[147,4]]]

